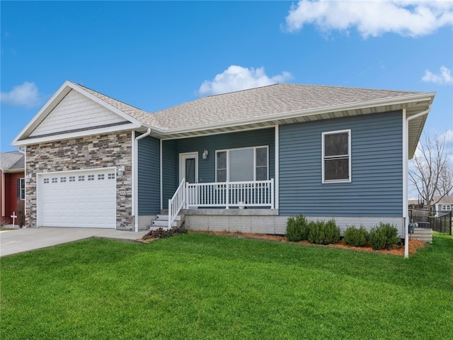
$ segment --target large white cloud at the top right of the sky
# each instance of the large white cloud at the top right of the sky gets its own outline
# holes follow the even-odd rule
[[[322,32],[357,28],[363,38],[384,33],[417,37],[453,26],[453,1],[301,0],[285,18],[289,32],[314,24]]]

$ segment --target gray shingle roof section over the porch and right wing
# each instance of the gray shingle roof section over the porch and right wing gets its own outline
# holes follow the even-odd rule
[[[200,98],[158,111],[153,115],[161,127],[190,128],[417,93],[337,86],[275,84]]]

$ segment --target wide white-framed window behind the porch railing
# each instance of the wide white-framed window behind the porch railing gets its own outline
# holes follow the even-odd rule
[[[248,147],[216,152],[216,181],[265,181],[268,179],[268,147]]]

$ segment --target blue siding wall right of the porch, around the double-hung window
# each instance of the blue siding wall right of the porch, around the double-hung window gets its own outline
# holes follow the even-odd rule
[[[280,126],[280,215],[401,217],[401,111]],[[322,132],[351,131],[351,183],[322,183]]]

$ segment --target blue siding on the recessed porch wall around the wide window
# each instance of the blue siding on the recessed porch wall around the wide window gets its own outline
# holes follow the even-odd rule
[[[183,152],[198,152],[198,183],[215,182],[216,150],[258,146],[269,147],[269,179],[273,179],[275,176],[274,128],[176,140],[178,154]],[[207,159],[202,159],[202,153],[205,149],[207,149],[209,155]],[[179,171],[178,164],[176,168]]]

